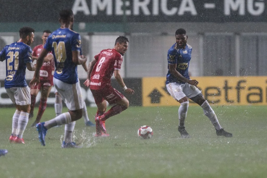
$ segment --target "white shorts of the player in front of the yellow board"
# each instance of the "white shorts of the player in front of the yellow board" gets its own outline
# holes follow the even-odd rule
[[[168,92],[176,101],[179,101],[180,99],[186,96],[188,98],[192,98],[201,93],[201,91],[197,87],[195,87],[194,85],[190,85],[189,83],[178,84],[176,82],[173,82],[168,83],[166,87]]]

